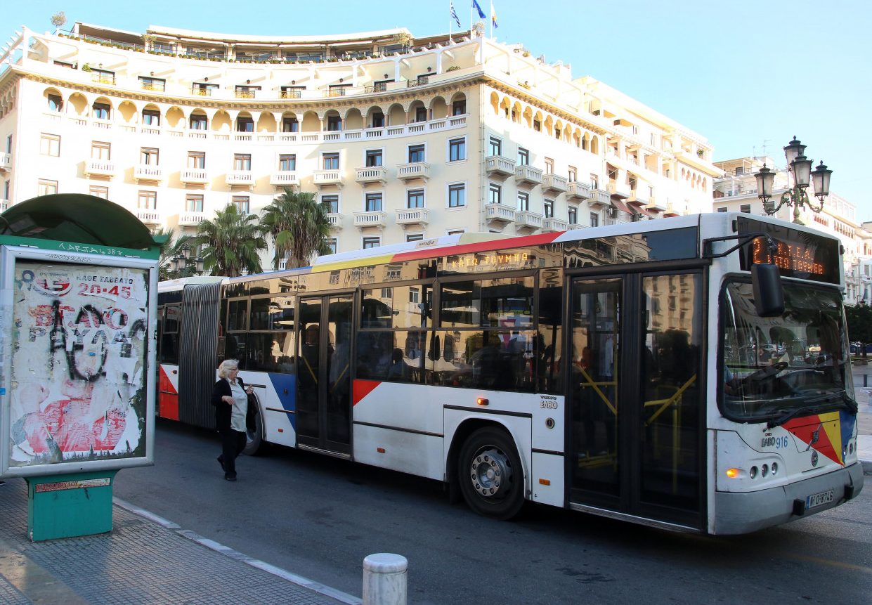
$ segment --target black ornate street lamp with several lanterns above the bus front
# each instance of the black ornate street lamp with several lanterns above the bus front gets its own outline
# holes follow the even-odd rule
[[[794,207],[794,222],[802,225],[800,219],[800,208],[807,206],[814,212],[823,210],[823,201],[829,194],[829,177],[833,173],[826,165],[821,163],[812,171],[813,160],[809,160],[806,155],[806,146],[802,145],[799,140],[794,137],[787,146],[784,147],[784,156],[787,158],[787,191],[781,194],[778,206],[772,200],[772,186],[775,181],[775,171],[766,167],[766,164],[760,168],[760,172],[754,174],[757,179],[757,191],[760,192],[757,197],[763,202],[763,209],[766,214],[775,214],[782,206]],[[790,174],[794,175],[794,186],[790,185]],[[807,188],[809,181],[814,181],[814,197],[821,202],[820,206],[815,206],[814,202],[808,199]]]

